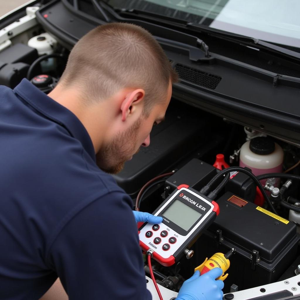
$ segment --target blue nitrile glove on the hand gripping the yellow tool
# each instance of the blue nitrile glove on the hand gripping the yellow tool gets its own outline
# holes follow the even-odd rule
[[[223,274],[222,269],[213,268],[200,276],[196,271],[182,284],[176,300],[222,300],[224,287],[222,280],[215,280]]]

